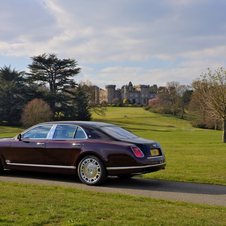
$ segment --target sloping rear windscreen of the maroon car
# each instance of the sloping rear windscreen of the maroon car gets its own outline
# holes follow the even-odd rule
[[[109,134],[110,136],[116,138],[116,139],[132,139],[136,138],[137,136],[133,133],[130,133],[129,131],[122,129],[118,126],[104,126],[101,127],[101,129]]]

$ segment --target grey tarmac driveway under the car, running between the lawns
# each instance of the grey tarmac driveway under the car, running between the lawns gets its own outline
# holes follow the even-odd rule
[[[189,194],[206,194],[206,195],[224,195],[226,194],[226,186],[197,184],[187,182],[143,179],[133,177],[130,179],[119,179],[118,177],[108,177],[107,181],[101,186],[88,186],[80,182],[76,175],[67,174],[53,174],[28,172],[17,170],[5,170],[4,174],[0,176],[2,179],[11,179],[10,182],[19,183],[34,183],[56,186],[77,187],[85,190],[94,190],[94,188],[101,188],[105,192],[107,189],[120,190],[138,190],[143,192],[173,192],[173,193],[189,193]],[[4,180],[7,181],[7,180]],[[40,181],[44,181],[40,183]]]

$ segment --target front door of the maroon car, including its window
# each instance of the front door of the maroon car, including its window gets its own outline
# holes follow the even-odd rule
[[[39,125],[21,135],[21,139],[11,141],[8,152],[5,153],[6,164],[11,166],[45,165],[45,149],[47,136],[52,125]]]

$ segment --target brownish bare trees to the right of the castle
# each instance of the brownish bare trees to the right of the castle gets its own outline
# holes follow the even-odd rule
[[[226,71],[218,68],[201,74],[191,85],[167,82],[165,87],[150,87],[157,98],[149,100],[146,109],[179,115],[191,121],[194,127],[222,129],[226,143]]]

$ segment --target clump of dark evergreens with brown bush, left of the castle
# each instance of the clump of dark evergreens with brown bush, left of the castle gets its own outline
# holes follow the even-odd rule
[[[85,86],[74,81],[81,70],[77,62],[70,58],[58,59],[56,54],[31,59],[29,73],[11,69],[11,66],[0,69],[0,124],[90,120]]]

